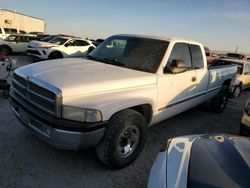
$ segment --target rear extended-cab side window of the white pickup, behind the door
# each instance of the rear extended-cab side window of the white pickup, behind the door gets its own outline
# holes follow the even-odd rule
[[[192,54],[193,67],[195,69],[202,69],[204,67],[204,62],[200,46],[193,44],[189,46]]]

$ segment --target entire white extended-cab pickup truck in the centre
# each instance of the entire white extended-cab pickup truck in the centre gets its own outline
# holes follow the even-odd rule
[[[202,44],[115,35],[87,58],[50,60],[15,70],[12,109],[45,142],[96,146],[112,168],[137,158],[147,127],[211,99],[222,112],[236,66],[207,67]]]

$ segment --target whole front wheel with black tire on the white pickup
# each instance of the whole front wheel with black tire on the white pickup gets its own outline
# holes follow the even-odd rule
[[[131,140],[133,137],[130,131],[134,136],[139,136],[137,142],[131,142],[130,146],[134,147],[133,149],[128,148],[130,146],[127,144],[129,143],[127,137],[130,137]],[[139,134],[135,134],[138,131]],[[139,156],[146,137],[147,123],[145,118],[134,110],[126,109],[111,117],[105,135],[96,147],[96,153],[104,164],[110,168],[119,169],[130,164]],[[126,148],[131,150],[126,151]]]

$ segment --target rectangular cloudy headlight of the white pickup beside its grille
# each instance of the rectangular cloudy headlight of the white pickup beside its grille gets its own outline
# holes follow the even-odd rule
[[[64,119],[82,121],[82,122],[102,121],[102,114],[99,110],[76,108],[71,106],[63,106],[62,117]]]

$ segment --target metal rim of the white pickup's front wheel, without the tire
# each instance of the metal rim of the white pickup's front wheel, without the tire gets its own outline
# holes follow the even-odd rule
[[[118,138],[117,151],[120,157],[126,158],[134,152],[140,140],[138,127],[131,125],[124,129]]]

